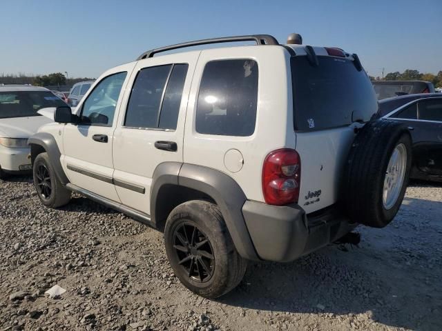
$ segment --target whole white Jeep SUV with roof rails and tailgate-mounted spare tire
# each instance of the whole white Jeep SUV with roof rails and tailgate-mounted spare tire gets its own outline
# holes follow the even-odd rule
[[[154,56],[233,41],[258,45]],[[358,56],[338,48],[167,46],[104,72],[75,114],[57,108],[29,139],[35,188],[50,208],[78,192],[164,231],[180,281],[220,297],[248,260],[292,261],[392,221],[411,138],[372,121],[377,108]]]

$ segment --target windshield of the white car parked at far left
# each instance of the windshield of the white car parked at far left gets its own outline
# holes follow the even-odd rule
[[[41,108],[66,106],[59,97],[48,91],[0,92],[0,119],[40,116]]]

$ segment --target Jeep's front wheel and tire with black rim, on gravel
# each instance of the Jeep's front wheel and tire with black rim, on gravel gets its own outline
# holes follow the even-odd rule
[[[70,191],[57,178],[48,153],[37,155],[32,166],[32,174],[39,199],[46,207],[58,208],[70,201]]]

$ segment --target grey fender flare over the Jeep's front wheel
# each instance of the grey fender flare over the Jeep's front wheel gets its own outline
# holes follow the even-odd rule
[[[58,148],[57,141],[55,141],[52,134],[47,132],[38,132],[33,134],[28,139],[28,145],[30,145],[32,163],[34,163],[34,159],[37,156],[35,146],[40,146],[46,151],[46,153],[48,153],[50,164],[52,165],[52,168],[54,168],[55,174],[57,175],[59,181],[64,185],[69,183],[69,179],[66,177],[63,167],[61,167],[61,153]]]

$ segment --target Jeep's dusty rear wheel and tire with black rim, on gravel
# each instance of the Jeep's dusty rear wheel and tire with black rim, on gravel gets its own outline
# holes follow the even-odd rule
[[[203,243],[205,239],[207,242]],[[214,203],[195,200],[175,207],[166,221],[164,241],[175,275],[195,294],[209,299],[221,297],[236,288],[244,277],[247,261],[236,251]],[[195,250],[198,243],[203,244]],[[193,248],[189,249],[190,246]],[[199,270],[202,272],[198,273]]]

